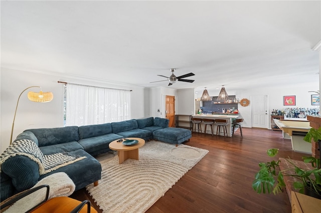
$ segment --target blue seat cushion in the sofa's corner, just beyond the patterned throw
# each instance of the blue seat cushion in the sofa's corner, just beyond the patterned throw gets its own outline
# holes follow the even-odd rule
[[[55,145],[40,146],[39,149],[42,151],[43,154],[48,155],[48,154],[55,154],[55,153],[64,152],[64,151],[70,152],[77,149],[84,149],[84,147],[82,147],[77,141],[71,141],[71,142],[55,144]]]

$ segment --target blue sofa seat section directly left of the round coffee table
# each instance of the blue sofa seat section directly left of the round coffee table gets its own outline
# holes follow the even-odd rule
[[[123,138],[123,136],[110,133],[110,134],[100,135],[96,137],[80,139],[78,142],[82,147],[84,147],[85,151],[95,156],[96,153],[100,153],[98,152],[99,150],[107,150],[107,151],[111,150],[109,149],[109,143],[113,140],[117,140],[120,138]]]

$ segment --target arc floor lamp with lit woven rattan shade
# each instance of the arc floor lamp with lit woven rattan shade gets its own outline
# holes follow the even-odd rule
[[[12,135],[13,135],[13,132],[14,132],[15,119],[16,119],[17,108],[18,108],[20,96],[22,95],[22,93],[24,93],[24,91],[26,91],[27,89],[32,88],[32,87],[40,87],[40,86],[29,86],[28,88],[26,88],[25,90],[23,90],[23,91],[20,93],[19,97],[18,97],[17,106],[16,106],[16,110],[15,110],[14,121],[13,121],[13,123],[12,123],[11,136],[10,136],[10,144],[12,143]],[[43,91],[41,90],[41,87],[40,87],[40,92],[33,92],[33,91],[29,91],[29,92],[28,92],[28,99],[31,100],[31,101],[34,101],[34,102],[42,102],[42,103],[44,103],[44,102],[50,102],[50,101],[52,101],[53,98],[54,98],[54,94],[53,94],[51,91],[43,92]]]

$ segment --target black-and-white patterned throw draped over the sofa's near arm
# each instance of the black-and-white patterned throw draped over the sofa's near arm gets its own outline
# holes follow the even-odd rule
[[[39,165],[40,175],[86,158],[86,156],[70,155],[68,152],[45,155],[34,141],[29,139],[21,139],[14,141],[1,154],[0,164],[2,165],[8,158],[16,155],[24,155],[37,162]]]

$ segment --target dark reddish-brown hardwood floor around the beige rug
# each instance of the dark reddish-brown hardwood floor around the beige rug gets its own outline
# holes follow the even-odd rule
[[[239,130],[233,137],[193,132],[184,144],[209,153],[146,212],[291,212],[285,190],[276,195],[257,194],[251,186],[258,163],[272,160],[266,155],[268,148],[279,148],[274,159],[289,156],[301,160],[306,155],[292,151],[291,140],[283,139],[281,131],[243,128],[243,138]],[[71,196],[91,200],[102,212],[85,189]]]

